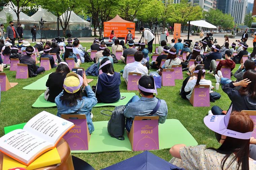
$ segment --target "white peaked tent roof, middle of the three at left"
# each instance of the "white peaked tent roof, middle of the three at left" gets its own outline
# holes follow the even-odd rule
[[[42,11],[37,11],[30,18],[33,20],[39,21],[41,17],[46,22],[57,22],[57,16],[47,11],[47,9],[42,9]]]

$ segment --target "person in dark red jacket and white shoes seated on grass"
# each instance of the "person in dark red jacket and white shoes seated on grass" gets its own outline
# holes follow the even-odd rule
[[[207,71],[208,74],[217,74],[222,66],[228,67],[231,71],[235,68],[235,62],[231,60],[232,52],[230,50],[225,51],[225,60],[221,60],[217,66],[216,60],[212,60],[210,63],[210,71]]]

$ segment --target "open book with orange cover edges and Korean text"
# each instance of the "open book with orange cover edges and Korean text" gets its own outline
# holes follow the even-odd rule
[[[23,129],[16,129],[2,136],[0,151],[29,165],[44,152],[55,148],[73,127],[72,122],[43,111],[30,119]]]

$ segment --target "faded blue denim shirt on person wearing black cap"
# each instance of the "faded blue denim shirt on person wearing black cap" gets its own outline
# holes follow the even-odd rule
[[[131,102],[127,105],[124,110],[124,116],[131,118],[133,121],[135,116],[148,116],[157,105],[158,99],[156,97],[147,98],[141,97],[136,102]],[[153,116],[159,116],[158,123],[164,123],[168,114],[167,104],[164,100],[161,100],[161,105]],[[131,128],[132,121],[129,122],[128,126]]]

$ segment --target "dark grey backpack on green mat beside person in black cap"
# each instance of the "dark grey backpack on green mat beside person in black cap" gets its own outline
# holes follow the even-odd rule
[[[110,136],[115,137],[119,140],[124,140],[124,128],[125,128],[125,117],[124,117],[124,105],[115,107],[114,111],[102,110],[100,113],[106,116],[111,116],[107,124],[107,131]],[[104,114],[103,111],[109,111],[112,115]]]

